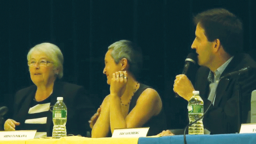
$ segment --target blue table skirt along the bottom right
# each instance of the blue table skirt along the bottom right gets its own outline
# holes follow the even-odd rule
[[[256,133],[186,135],[187,144],[256,144]],[[138,144],[184,144],[183,135],[141,137]]]

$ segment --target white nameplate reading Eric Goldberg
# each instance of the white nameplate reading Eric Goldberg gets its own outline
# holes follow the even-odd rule
[[[112,138],[139,138],[147,136],[149,127],[115,129]]]

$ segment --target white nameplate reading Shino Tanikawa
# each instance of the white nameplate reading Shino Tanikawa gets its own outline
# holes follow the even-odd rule
[[[36,130],[0,131],[0,140],[26,140],[35,137]]]

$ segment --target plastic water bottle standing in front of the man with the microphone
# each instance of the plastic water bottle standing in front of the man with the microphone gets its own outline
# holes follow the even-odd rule
[[[193,96],[189,100],[189,124],[200,118],[204,114],[204,101],[199,96],[199,91],[193,91]],[[189,135],[203,135],[204,125],[203,118],[195,122],[189,127]]]

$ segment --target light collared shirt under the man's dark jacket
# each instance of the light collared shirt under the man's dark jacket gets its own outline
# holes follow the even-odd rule
[[[213,101],[212,105],[214,105],[214,102],[215,102],[215,92],[216,92],[221,74],[226,69],[227,65],[230,63],[233,57],[231,57],[229,60],[223,63],[214,73],[212,71],[209,72],[208,81],[210,83],[209,84],[210,93],[209,93],[208,100]]]

